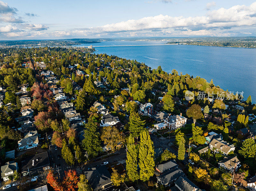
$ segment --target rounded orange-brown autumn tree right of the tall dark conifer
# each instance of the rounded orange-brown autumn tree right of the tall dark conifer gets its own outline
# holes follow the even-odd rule
[[[108,147],[110,146],[112,151],[115,151],[117,144],[124,141],[124,138],[115,126],[105,126],[102,129],[101,140]]]

